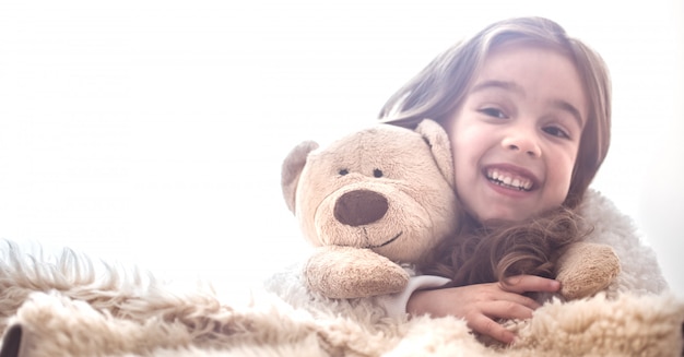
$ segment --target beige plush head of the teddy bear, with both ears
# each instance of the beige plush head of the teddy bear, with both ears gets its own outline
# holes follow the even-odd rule
[[[448,136],[432,120],[415,131],[376,124],[283,164],[285,201],[314,246],[367,248],[415,262],[458,228]]]

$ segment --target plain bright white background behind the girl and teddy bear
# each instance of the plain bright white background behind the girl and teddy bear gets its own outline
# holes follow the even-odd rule
[[[373,122],[464,35],[543,15],[609,63],[594,188],[684,294],[682,1],[471,2],[0,1],[0,238],[239,290],[306,253],[291,147]]]

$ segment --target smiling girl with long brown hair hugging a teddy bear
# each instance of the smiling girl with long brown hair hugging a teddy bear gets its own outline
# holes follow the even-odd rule
[[[420,266],[447,273],[412,278],[403,294],[386,300],[388,310],[464,318],[475,332],[512,342],[515,335],[495,321],[530,318],[540,305],[529,293],[555,293],[561,286],[534,270],[507,277],[487,269],[502,258],[492,252],[502,247],[533,251],[544,265],[556,250],[582,238],[576,209],[608,153],[610,92],[599,55],[540,17],[484,28],[398,91],[381,120],[413,127],[431,118],[446,129],[468,224],[434,252],[435,261]],[[531,227],[526,234],[531,238],[523,247],[507,241],[507,233],[524,226]],[[467,243],[459,246],[463,237]],[[656,287],[647,289],[664,289],[654,258],[644,257],[639,264],[654,266],[658,276]],[[475,272],[459,277],[463,266]]]

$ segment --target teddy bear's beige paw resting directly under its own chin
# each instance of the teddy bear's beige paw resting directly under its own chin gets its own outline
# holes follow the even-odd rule
[[[335,299],[394,294],[409,283],[403,267],[372,250],[353,247],[318,248],[303,273],[311,291]]]

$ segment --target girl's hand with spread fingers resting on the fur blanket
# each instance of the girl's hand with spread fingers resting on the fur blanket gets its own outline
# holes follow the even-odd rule
[[[414,316],[463,318],[473,331],[509,344],[515,334],[495,319],[529,319],[540,305],[522,294],[555,293],[559,288],[561,283],[553,279],[519,275],[506,282],[415,291],[406,311]]]

